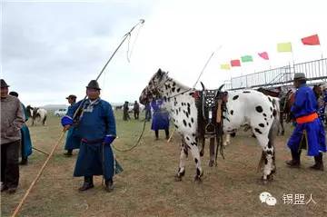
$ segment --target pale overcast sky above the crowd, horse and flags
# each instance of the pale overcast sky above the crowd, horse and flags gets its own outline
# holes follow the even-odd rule
[[[201,78],[209,88],[231,76],[327,55],[323,0],[2,1],[1,78],[24,104],[67,104],[68,94],[82,99],[85,85],[140,19],[145,23],[133,32],[130,62],[125,41],[99,80],[109,102],[137,100],[159,67],[192,86],[221,45]],[[322,45],[302,45],[301,38],[313,34]],[[292,43],[292,54],[277,53],[281,42]],[[263,51],[271,61],[257,57]],[[253,63],[220,69],[244,54],[253,55]]]

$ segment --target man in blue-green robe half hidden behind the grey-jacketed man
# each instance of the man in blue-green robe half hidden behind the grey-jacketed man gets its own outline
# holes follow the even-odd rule
[[[15,97],[18,98],[18,93],[16,93],[15,91],[12,91],[9,93],[9,95],[13,95]],[[31,140],[31,135],[29,133],[28,127],[26,122],[28,121],[28,113],[27,110],[25,108],[25,105],[23,103],[21,103],[21,106],[23,108],[23,118],[25,123],[23,124],[20,132],[21,132],[21,157],[22,160],[19,164],[21,165],[27,165],[28,163],[28,156],[31,155],[32,152],[32,140]]]

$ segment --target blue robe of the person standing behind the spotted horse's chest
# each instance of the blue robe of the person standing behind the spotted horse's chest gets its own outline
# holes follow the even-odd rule
[[[154,131],[169,128],[169,113],[161,109],[162,104],[162,100],[154,100],[151,102],[151,107],[154,111],[151,129]]]

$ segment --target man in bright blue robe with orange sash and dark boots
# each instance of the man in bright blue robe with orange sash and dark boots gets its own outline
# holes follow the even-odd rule
[[[297,88],[291,112],[296,127],[287,143],[291,149],[292,160],[286,162],[290,167],[300,167],[302,148],[309,156],[314,156],[314,165],[310,168],[323,171],[322,153],[326,152],[325,132],[318,118],[318,104],[312,88],[307,86],[305,74],[294,74],[294,86]]]

